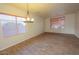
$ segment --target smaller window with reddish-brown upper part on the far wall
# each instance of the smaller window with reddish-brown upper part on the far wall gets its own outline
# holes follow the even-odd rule
[[[57,16],[50,19],[51,28],[64,28],[64,16]]]

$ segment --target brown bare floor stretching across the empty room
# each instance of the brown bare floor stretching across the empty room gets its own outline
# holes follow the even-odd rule
[[[1,55],[78,55],[74,35],[45,33],[0,52]]]

